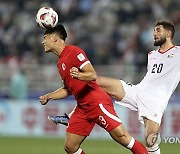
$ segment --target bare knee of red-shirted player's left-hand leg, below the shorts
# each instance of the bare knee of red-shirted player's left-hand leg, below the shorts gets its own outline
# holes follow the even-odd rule
[[[76,135],[73,133],[66,133],[65,137],[65,149],[69,151],[74,151],[79,149],[81,143],[86,139],[86,136]]]

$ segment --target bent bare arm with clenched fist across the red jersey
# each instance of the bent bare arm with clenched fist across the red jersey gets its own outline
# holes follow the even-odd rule
[[[97,75],[91,63],[86,64],[81,70],[76,67],[70,69],[70,75],[83,81],[96,80]]]

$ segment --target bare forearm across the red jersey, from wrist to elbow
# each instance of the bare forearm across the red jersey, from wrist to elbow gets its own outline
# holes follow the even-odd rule
[[[79,72],[77,79],[83,81],[93,81],[96,80],[97,75],[95,72]]]

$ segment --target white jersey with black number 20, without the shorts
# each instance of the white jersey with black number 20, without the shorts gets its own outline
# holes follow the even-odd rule
[[[165,109],[180,81],[180,46],[174,46],[164,53],[151,51],[147,69],[144,79],[137,86],[163,103],[161,105]]]

